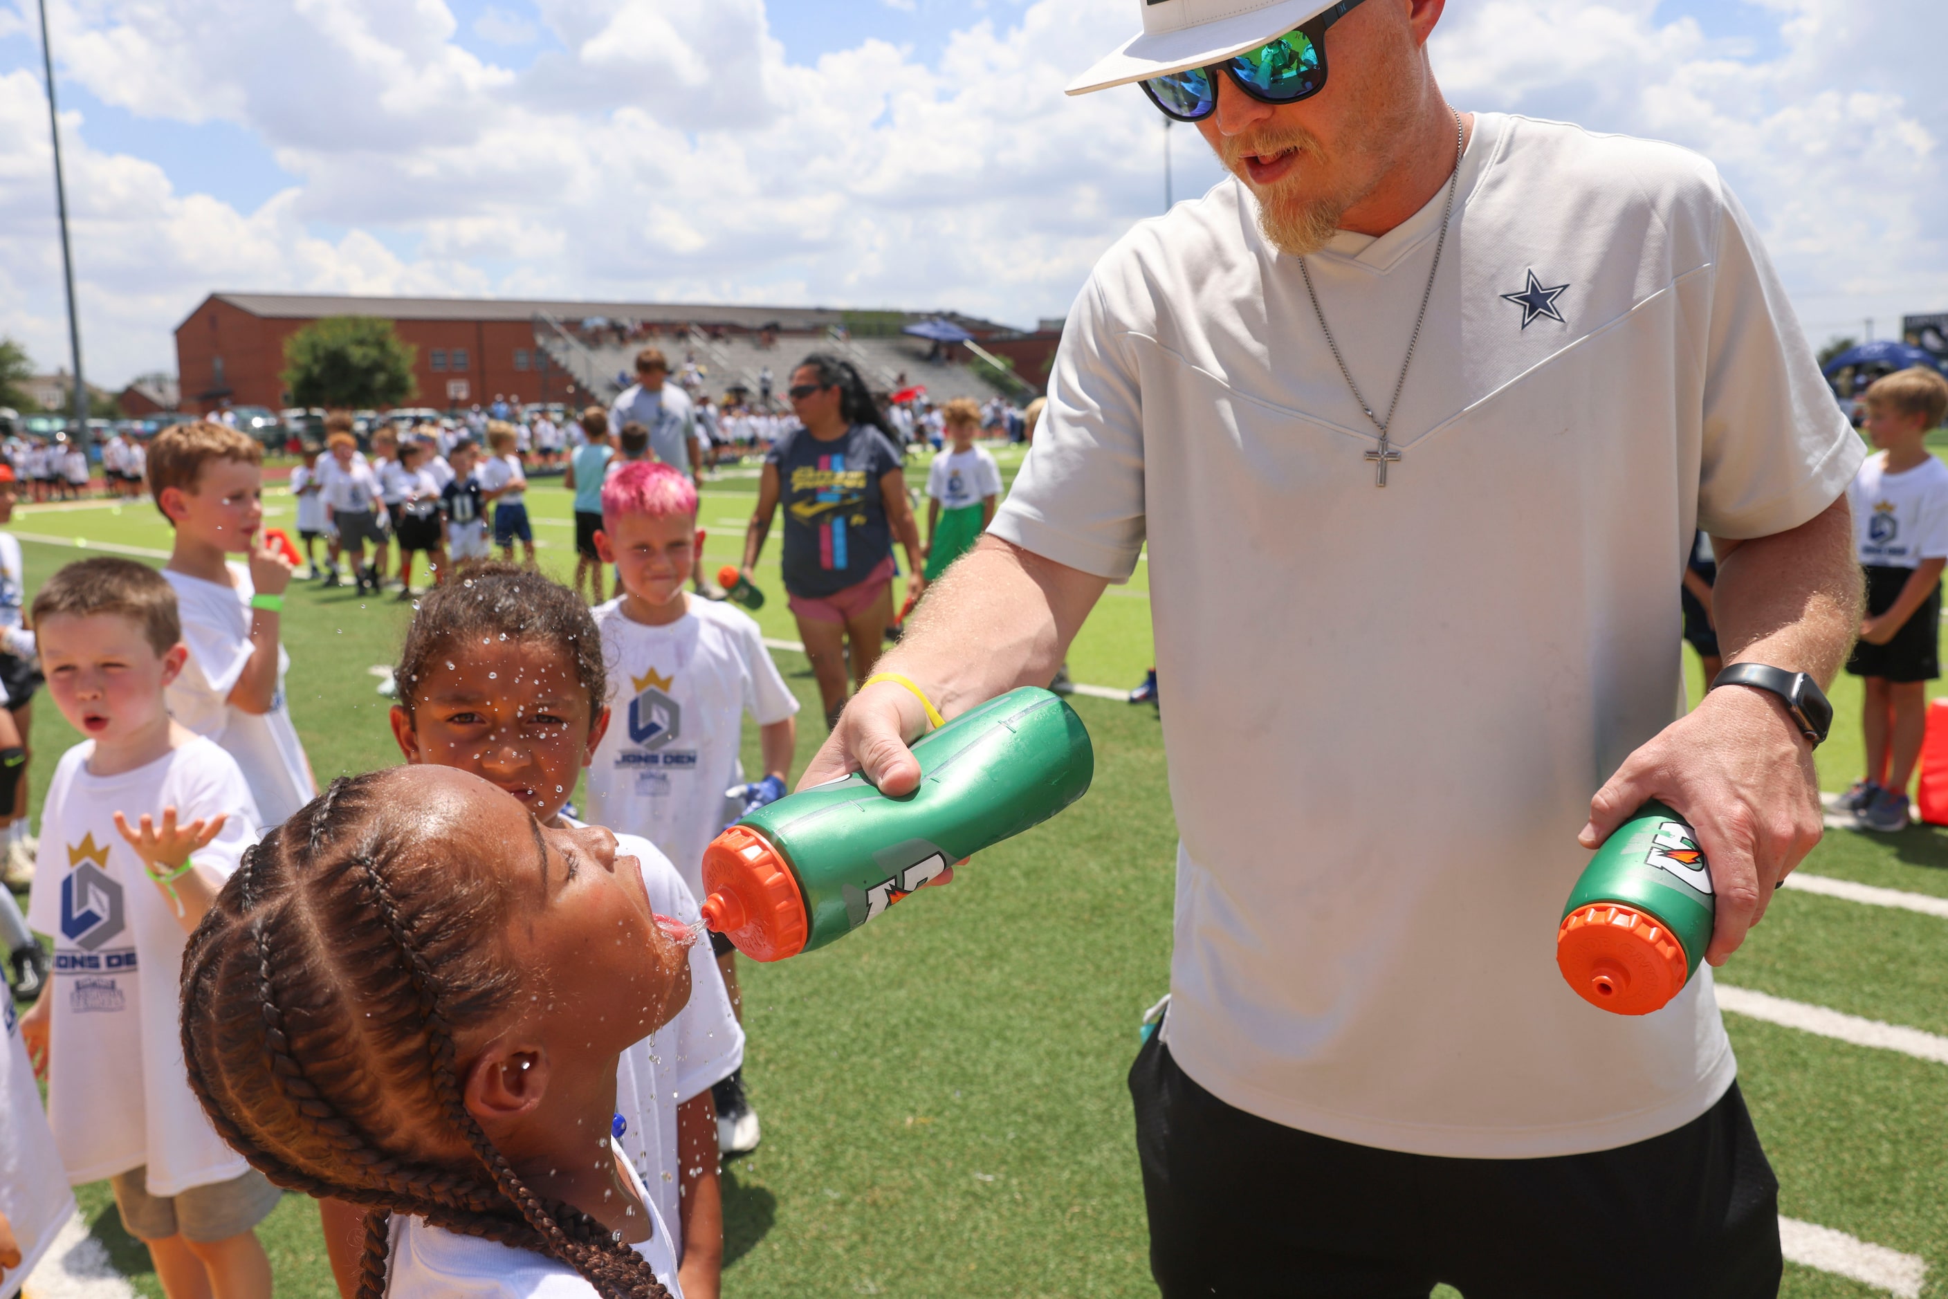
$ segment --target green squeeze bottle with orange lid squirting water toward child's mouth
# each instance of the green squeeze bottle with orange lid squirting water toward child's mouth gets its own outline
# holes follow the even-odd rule
[[[836,943],[953,863],[1038,826],[1089,791],[1075,711],[1025,686],[914,744],[919,787],[853,773],[758,808],[703,851],[703,921],[752,960]]]

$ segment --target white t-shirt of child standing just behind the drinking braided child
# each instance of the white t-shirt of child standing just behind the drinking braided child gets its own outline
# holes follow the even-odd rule
[[[703,923],[684,876],[655,843],[619,834],[616,855],[641,863],[643,888],[658,915]],[[697,943],[690,948],[690,1001],[676,1019],[623,1052],[616,1067],[616,1112],[629,1124],[621,1133],[621,1153],[670,1225],[670,1246],[678,1258],[684,1256],[684,1215],[676,1110],[736,1073],[742,1063],[744,1030],[730,1011],[725,976],[711,945]],[[717,1147],[711,1145],[705,1155],[715,1159]]]

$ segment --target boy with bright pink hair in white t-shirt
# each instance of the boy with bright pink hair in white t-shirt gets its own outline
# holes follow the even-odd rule
[[[588,820],[637,834],[703,896],[703,849],[727,822],[783,797],[799,742],[799,699],[748,613],[688,592],[703,555],[697,489],[676,467],[637,460],[602,487],[602,563],[621,592],[594,610],[610,670],[612,721],[588,763]],[[744,713],[758,723],[764,779],[744,785]],[[727,806],[727,800],[732,806]],[[711,935],[742,1021],[732,948]],[[715,1087],[725,1155],[758,1147],[742,1071]]]

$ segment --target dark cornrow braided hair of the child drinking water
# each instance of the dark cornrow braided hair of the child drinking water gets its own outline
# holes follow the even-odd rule
[[[557,1258],[604,1299],[668,1299],[619,1233],[534,1194],[468,1112],[456,1036],[518,991],[485,939],[510,894],[401,849],[388,775],[333,781],[273,830],[191,937],[181,1028],[197,1100],[275,1184],[368,1211],[360,1299],[386,1293],[392,1213]],[[427,1130],[471,1159],[411,1153]]]

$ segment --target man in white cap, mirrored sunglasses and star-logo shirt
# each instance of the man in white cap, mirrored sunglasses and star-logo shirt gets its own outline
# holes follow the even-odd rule
[[[1182,835],[1130,1077],[1157,1281],[1771,1295],[1710,972],[1607,1015],[1555,939],[1652,797],[1708,855],[1712,964],[1817,841],[1860,442],[1706,160],[1455,113],[1430,0],[1132,8],[1073,90],[1143,80],[1231,177],[1097,263],[1009,501],[880,666],[949,717],[1048,682],[1147,541]],[[1693,526],[1738,680],[1673,721]],[[904,793],[925,724],[873,686],[803,779]]]

